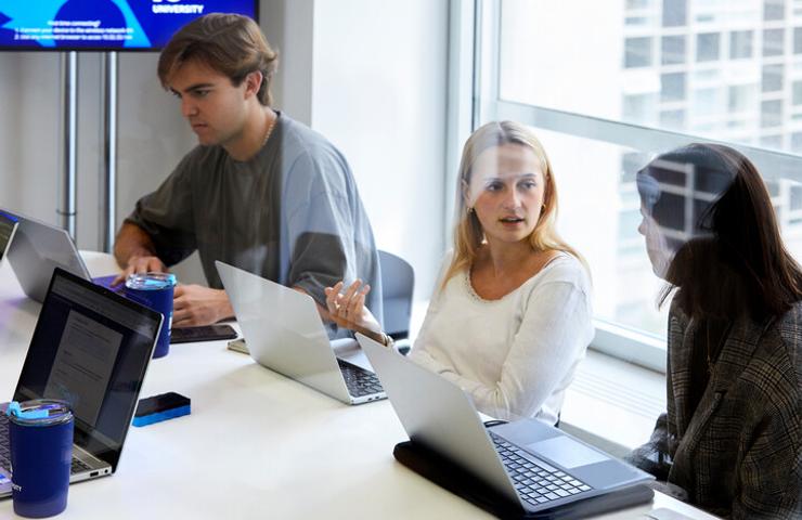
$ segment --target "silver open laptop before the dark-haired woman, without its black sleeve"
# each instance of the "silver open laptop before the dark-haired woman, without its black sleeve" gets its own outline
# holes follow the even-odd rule
[[[462,467],[527,512],[654,479],[539,420],[486,428],[457,386],[361,334],[357,339],[410,439]]]

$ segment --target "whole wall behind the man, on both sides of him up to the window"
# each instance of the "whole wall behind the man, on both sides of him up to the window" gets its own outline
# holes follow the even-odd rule
[[[380,248],[408,258],[428,297],[442,252],[444,0],[262,0],[281,52],[276,105],[327,135],[354,171]],[[81,54],[78,246],[99,248],[101,56]],[[156,78],[155,53],[119,58],[118,222],[195,140]],[[59,223],[60,60],[0,53],[0,207]],[[196,261],[179,270],[199,281]]]

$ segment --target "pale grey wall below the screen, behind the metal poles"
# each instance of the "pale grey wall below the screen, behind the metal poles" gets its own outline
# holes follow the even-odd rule
[[[119,56],[117,222],[158,186],[194,136],[174,100],[159,86],[154,53]],[[102,154],[99,53],[78,57],[77,243],[98,249]],[[0,53],[0,207],[61,224],[56,213],[63,165],[61,55]],[[203,280],[196,269],[184,278]],[[182,274],[184,271],[179,272]]]

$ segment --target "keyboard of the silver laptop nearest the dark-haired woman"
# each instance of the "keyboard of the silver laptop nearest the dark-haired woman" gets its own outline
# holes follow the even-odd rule
[[[488,433],[495,444],[495,451],[501,455],[507,473],[515,483],[518,495],[525,502],[541,506],[552,500],[591,491],[592,487],[584,482],[545,463],[533,463],[532,455],[492,431]]]

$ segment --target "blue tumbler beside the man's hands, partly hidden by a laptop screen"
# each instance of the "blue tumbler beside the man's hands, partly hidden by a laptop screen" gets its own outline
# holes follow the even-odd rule
[[[165,315],[156,348],[153,350],[154,359],[170,352],[173,287],[176,275],[171,273],[134,273],[126,278],[126,297]]]

